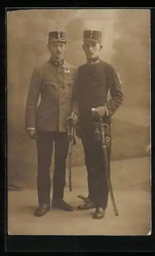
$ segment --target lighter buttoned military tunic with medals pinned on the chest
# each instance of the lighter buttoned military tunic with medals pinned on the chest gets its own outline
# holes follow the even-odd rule
[[[72,100],[76,80],[77,69],[65,61],[62,66],[49,60],[36,67],[27,99],[26,129],[65,132],[65,119],[72,110],[76,112],[76,103]],[[41,101],[36,110],[39,94]]]

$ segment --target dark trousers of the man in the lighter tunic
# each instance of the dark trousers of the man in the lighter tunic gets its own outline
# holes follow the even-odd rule
[[[37,133],[37,191],[38,204],[50,204],[51,182],[50,166],[55,143],[53,200],[63,198],[65,185],[65,162],[68,155],[69,140],[67,133],[38,132]]]

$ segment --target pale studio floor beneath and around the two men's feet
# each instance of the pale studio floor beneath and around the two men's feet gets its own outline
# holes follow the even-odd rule
[[[23,188],[8,191],[8,233],[54,234],[54,235],[147,235],[151,231],[150,159],[148,157],[113,161],[112,184],[119,211],[115,217],[112,202],[104,219],[94,220],[94,209],[79,211],[82,203],[77,196],[87,195],[86,169],[72,170],[73,191],[65,187],[64,199],[75,207],[73,212],[53,209],[37,218],[33,212],[37,207],[37,191]]]

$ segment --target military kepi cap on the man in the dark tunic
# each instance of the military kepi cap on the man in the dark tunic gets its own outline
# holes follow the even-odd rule
[[[83,41],[101,42],[102,32],[96,30],[84,30]]]

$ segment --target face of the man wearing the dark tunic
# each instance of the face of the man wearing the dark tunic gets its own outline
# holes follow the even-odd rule
[[[102,45],[98,42],[83,42],[83,50],[87,58],[96,58],[99,56]]]

